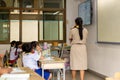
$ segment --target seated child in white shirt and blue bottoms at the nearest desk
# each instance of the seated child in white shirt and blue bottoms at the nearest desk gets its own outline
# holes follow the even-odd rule
[[[29,67],[30,69],[34,70],[40,76],[42,76],[42,69],[38,66],[37,61],[40,59],[40,55],[35,54],[35,50],[31,43],[24,43],[22,45],[23,54],[23,66]],[[52,74],[48,71],[44,71],[44,78],[45,80],[51,80]]]

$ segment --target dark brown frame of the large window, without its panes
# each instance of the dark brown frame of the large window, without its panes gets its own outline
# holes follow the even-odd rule
[[[19,1],[22,1],[22,0],[19,0]],[[37,0],[35,0],[37,1]],[[21,2],[22,3],[22,2]],[[23,8],[22,7],[22,4],[19,4],[20,7],[0,7],[0,10],[4,10],[4,9],[9,9],[10,11],[12,10],[19,10],[19,41],[22,41],[22,11],[23,10],[36,10],[38,11],[38,16],[39,16],[39,11],[63,11],[63,40],[40,40],[39,41],[39,24],[38,24],[38,41],[39,42],[60,42],[60,43],[63,43],[63,42],[66,42],[66,0],[64,0],[64,8]],[[36,2],[35,2],[36,4]],[[34,5],[35,5],[34,4]],[[10,15],[11,16],[11,15]],[[9,22],[10,22],[10,16],[9,16]],[[39,19],[36,19],[38,20],[39,22]],[[10,24],[10,23],[9,23]],[[10,27],[9,27],[9,40],[7,41],[0,41],[0,44],[8,44],[10,43]]]

